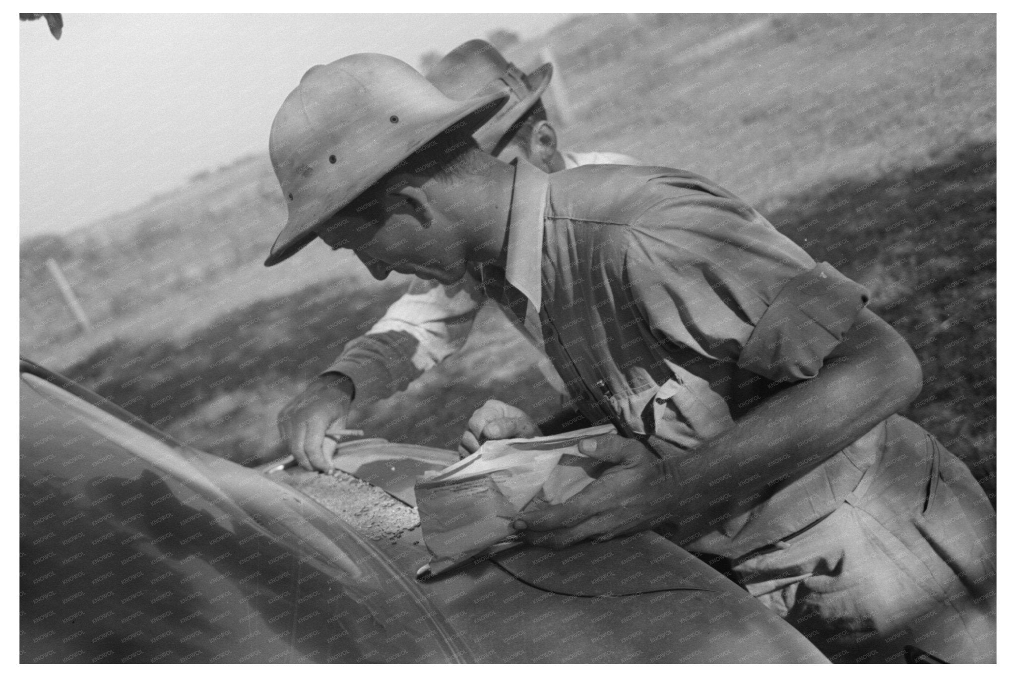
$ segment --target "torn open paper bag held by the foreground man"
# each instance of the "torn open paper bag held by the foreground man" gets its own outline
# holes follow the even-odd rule
[[[421,574],[447,570],[518,541],[512,521],[525,509],[563,503],[602,472],[578,451],[581,439],[617,434],[598,425],[546,437],[493,439],[475,454],[417,479],[417,507],[431,553]]]

